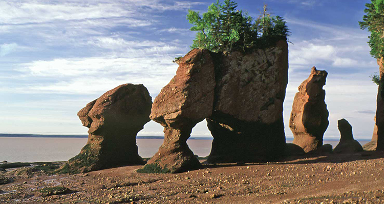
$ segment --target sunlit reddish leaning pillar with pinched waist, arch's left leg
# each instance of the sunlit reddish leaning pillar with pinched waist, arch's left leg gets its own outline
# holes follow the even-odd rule
[[[200,167],[186,141],[192,128],[212,113],[215,66],[210,53],[193,49],[178,61],[175,77],[155,98],[151,119],[164,126],[164,143],[138,172],[181,172]]]

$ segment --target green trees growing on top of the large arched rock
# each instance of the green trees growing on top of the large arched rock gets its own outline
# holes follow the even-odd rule
[[[289,34],[284,19],[272,16],[264,5],[262,15],[253,19],[246,12],[237,10],[238,4],[231,0],[211,4],[206,13],[189,10],[187,20],[197,31],[191,48],[205,48],[212,52],[245,50],[256,44],[266,44],[269,38],[284,38]]]

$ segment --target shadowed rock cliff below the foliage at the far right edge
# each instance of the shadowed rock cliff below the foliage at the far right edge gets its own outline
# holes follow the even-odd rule
[[[384,150],[384,58],[378,59],[380,70],[379,90],[376,101],[376,125],[377,125],[377,147],[376,150]]]

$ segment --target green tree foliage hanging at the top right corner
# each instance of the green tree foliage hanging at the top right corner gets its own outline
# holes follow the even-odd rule
[[[371,33],[368,41],[371,55],[379,59],[384,57],[384,0],[371,0],[366,7],[366,15],[359,24],[361,29],[368,29]]]

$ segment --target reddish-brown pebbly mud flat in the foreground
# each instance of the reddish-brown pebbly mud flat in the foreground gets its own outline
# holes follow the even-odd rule
[[[56,175],[49,171],[58,163],[40,163],[2,171],[10,183],[0,185],[0,203],[383,203],[382,155],[203,165],[178,174],[137,173],[139,165]]]

